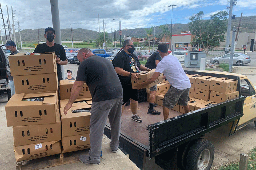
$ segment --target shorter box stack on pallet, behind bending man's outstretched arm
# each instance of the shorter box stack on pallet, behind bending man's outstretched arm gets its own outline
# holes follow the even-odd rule
[[[92,98],[86,84],[65,115],[63,109],[69,101],[74,80],[60,81],[60,111],[62,129],[62,153],[90,148],[89,125]]]

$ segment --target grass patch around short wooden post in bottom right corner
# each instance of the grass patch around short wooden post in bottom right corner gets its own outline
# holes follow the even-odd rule
[[[256,169],[256,147],[250,151],[249,155],[249,161],[248,161],[248,170],[255,170]],[[217,170],[239,170],[239,163],[232,162],[227,165],[224,165],[223,167],[217,169]]]

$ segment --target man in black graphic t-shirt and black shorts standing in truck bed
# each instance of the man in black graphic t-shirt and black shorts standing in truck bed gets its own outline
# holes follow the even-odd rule
[[[137,80],[139,70],[148,71],[150,69],[141,65],[138,57],[136,57],[133,52],[133,41],[129,39],[125,40],[123,42],[123,50],[115,56],[115,58],[112,60],[112,63],[123,87],[122,113],[125,108],[125,104],[130,99],[130,107],[132,113],[131,119],[136,122],[142,122],[142,119],[137,114],[139,90],[133,89],[131,85],[131,78]]]

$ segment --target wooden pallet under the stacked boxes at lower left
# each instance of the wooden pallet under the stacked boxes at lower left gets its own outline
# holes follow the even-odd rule
[[[17,162],[16,170],[37,170],[80,162],[79,156],[88,154],[89,149],[51,155],[43,158]]]

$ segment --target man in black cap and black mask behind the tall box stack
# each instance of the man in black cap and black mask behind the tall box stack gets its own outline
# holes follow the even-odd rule
[[[65,49],[62,45],[59,45],[53,42],[53,40],[56,37],[55,31],[53,28],[51,27],[45,28],[44,36],[46,38],[46,43],[38,44],[34,50],[34,53],[55,52],[58,81],[62,80],[61,65],[67,65],[67,57],[66,57]]]

